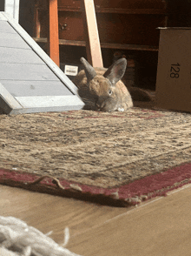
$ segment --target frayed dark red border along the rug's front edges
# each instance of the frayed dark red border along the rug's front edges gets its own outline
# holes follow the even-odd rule
[[[81,199],[101,205],[137,205],[144,200],[166,196],[167,192],[191,183],[191,162],[178,165],[160,173],[135,180],[127,185],[102,188],[83,185],[67,179],[37,176],[0,168],[0,184],[20,187],[30,191],[45,192],[67,198]]]

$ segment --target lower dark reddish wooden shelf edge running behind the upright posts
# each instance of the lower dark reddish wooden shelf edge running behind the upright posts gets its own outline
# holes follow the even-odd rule
[[[36,38],[33,37],[36,43],[47,43],[47,38]],[[86,46],[85,41],[73,41],[73,40],[59,40],[60,45],[73,45],[73,46]],[[122,50],[135,50],[135,51],[158,51],[158,46],[151,45],[138,45],[138,44],[109,44],[101,43],[102,48],[109,49],[122,49]]]

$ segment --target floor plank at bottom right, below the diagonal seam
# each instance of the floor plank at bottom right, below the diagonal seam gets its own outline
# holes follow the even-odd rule
[[[189,256],[190,196],[189,185],[168,197],[138,206],[71,238],[68,248],[84,256]]]

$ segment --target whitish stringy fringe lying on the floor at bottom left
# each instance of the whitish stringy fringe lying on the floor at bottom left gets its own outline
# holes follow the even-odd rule
[[[0,216],[0,255],[8,256],[80,256],[58,246],[53,239],[23,220]],[[69,228],[65,229],[63,245],[69,240]]]

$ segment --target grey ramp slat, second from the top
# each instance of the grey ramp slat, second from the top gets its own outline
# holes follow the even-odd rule
[[[18,34],[6,33],[0,31],[0,46],[16,49],[30,49],[29,44],[23,41]]]

